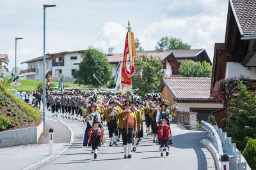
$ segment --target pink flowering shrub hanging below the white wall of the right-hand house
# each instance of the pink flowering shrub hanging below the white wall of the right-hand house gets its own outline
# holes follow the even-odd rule
[[[226,78],[220,81],[217,81],[212,89],[212,97],[216,100],[221,101],[231,99],[236,96],[239,90],[246,86],[248,88],[250,86],[250,82],[253,80],[250,78],[245,78],[243,75],[238,78]]]

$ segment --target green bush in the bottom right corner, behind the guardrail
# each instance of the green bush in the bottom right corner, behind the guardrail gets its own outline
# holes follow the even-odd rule
[[[256,139],[249,139],[243,155],[252,170],[256,170]]]

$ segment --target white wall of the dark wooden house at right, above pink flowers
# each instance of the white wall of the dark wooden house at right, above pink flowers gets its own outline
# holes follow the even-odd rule
[[[250,69],[251,70],[237,62],[227,62],[225,78],[230,78],[232,76],[239,77],[243,74],[245,77],[249,76],[250,78],[256,79],[256,68],[250,67]]]

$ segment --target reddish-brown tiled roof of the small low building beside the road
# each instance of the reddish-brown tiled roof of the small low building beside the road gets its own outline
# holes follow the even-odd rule
[[[163,78],[159,92],[164,85],[175,101],[215,101],[210,94],[211,78],[170,76]]]

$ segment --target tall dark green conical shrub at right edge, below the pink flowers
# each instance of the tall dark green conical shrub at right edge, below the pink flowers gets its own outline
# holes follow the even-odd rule
[[[248,140],[256,138],[256,98],[242,81],[237,81],[237,89],[239,93],[229,103],[227,132],[238,150],[243,152]]]

